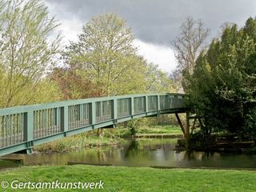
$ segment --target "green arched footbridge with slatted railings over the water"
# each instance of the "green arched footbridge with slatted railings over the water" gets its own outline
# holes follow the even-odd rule
[[[184,94],[132,94],[0,109],[0,156],[118,122],[185,113]],[[179,120],[179,119],[178,119]]]

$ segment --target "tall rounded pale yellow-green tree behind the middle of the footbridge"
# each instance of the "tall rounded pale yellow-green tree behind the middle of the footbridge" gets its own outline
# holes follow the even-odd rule
[[[133,41],[124,19],[116,14],[98,15],[83,26],[78,42],[71,42],[63,56],[70,69],[102,90],[98,96],[129,94],[141,87],[146,68]]]

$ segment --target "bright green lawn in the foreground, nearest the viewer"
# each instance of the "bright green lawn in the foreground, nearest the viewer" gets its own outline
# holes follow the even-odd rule
[[[255,191],[248,170],[158,170],[148,167],[23,166],[1,171],[0,182],[104,182],[102,191]],[[13,191],[10,188],[1,191]],[[34,191],[34,190],[16,190]],[[50,191],[50,190],[36,190]],[[84,191],[84,190],[54,190]],[[100,191],[100,190],[94,190]]]

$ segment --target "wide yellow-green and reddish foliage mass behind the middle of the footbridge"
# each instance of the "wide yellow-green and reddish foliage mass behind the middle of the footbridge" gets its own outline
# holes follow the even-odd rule
[[[138,55],[134,34],[117,14],[91,18],[62,56],[66,68],[50,77],[66,99],[175,90],[168,74]]]

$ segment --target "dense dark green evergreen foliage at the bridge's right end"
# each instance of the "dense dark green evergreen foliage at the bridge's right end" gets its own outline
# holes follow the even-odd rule
[[[204,118],[205,134],[228,131],[256,138],[256,20],[226,26],[198,56],[186,84],[191,110]]]

